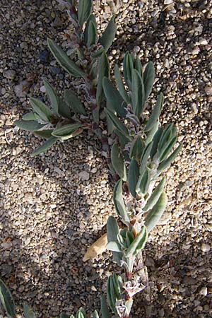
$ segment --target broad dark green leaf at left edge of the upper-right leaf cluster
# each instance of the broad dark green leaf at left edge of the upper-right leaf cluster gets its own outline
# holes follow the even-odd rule
[[[126,107],[126,102],[124,102],[117,88],[114,87],[112,81],[110,81],[110,79],[107,77],[103,78],[102,84],[110,110],[117,112],[117,114],[125,118],[126,109],[124,107]]]

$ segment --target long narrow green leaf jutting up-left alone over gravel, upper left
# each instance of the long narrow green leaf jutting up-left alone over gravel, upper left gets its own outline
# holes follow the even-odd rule
[[[86,1],[86,0],[84,0]],[[89,0],[88,0],[89,1]],[[52,52],[54,58],[58,61],[59,65],[66,70],[69,74],[75,77],[86,77],[86,74],[81,68],[79,68],[68,55],[64,52],[59,45],[57,45],[53,40],[47,39],[47,45]]]

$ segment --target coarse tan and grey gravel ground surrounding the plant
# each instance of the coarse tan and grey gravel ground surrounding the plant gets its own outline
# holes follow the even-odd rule
[[[163,2],[170,1],[95,1],[95,11],[104,28],[119,9],[110,59],[121,63],[133,49],[143,64],[154,62],[154,93],[165,94],[163,122],[175,122],[183,143],[167,171],[163,226],[146,249],[152,317],[211,317],[212,4]],[[52,37],[66,45],[69,22],[54,0],[1,0],[0,13],[0,276],[18,307],[28,301],[37,317],[85,304],[93,309],[111,269],[109,254],[82,261],[113,208],[100,145],[85,134],[30,158],[40,140],[13,126],[29,110],[30,96],[43,96],[42,78],[58,90],[71,85],[46,42]],[[80,177],[85,171],[88,180]],[[133,317],[146,305],[139,295]]]

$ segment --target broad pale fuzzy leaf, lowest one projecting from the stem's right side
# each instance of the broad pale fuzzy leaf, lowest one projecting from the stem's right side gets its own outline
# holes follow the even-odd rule
[[[155,206],[153,206],[151,211],[148,212],[148,215],[144,219],[144,224],[146,225],[148,232],[150,232],[155,227],[155,225],[158,224],[161,216],[163,216],[166,204],[167,198],[165,192],[162,192],[157,203],[155,204]]]

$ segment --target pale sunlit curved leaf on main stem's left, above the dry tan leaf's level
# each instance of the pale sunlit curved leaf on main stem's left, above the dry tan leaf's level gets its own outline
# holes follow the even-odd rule
[[[124,222],[130,222],[128,213],[126,212],[126,206],[122,195],[122,179],[119,179],[114,186],[113,202],[119,216],[122,217]]]

